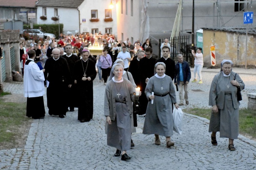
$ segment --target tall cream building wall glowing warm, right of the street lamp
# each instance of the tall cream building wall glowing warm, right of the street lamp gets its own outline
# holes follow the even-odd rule
[[[139,38],[142,5],[141,0],[133,0],[132,2],[133,6],[131,6],[131,0],[118,0],[116,3],[117,37],[118,40],[122,39],[123,41],[129,37],[132,43],[134,43]]]

